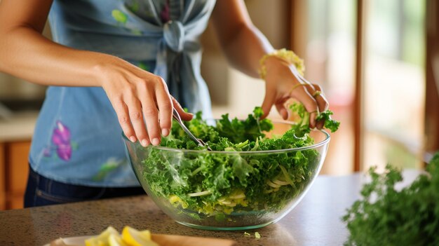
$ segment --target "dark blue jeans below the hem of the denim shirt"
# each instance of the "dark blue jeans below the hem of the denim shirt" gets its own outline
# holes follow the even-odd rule
[[[142,187],[107,188],[65,184],[43,177],[29,168],[25,207],[135,195],[146,195],[146,193]]]

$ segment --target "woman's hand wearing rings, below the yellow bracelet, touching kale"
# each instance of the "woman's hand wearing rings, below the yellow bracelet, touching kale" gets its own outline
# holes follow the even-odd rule
[[[306,81],[293,64],[288,64],[278,57],[268,57],[265,66],[265,98],[262,103],[264,117],[268,116],[274,104],[282,118],[287,119],[288,110],[285,108],[285,102],[295,98],[310,112],[309,127],[323,128],[325,122],[316,122],[316,116],[318,112],[325,111],[329,104],[320,86]]]

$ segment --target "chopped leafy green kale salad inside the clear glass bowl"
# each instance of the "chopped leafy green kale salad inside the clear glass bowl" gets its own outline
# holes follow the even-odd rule
[[[266,137],[273,129],[269,119],[261,119],[262,109],[241,121],[225,114],[209,125],[201,113],[185,122],[191,132],[213,150],[198,146],[177,123],[161,146],[198,151],[163,151],[151,147],[142,161],[143,178],[151,192],[169,204],[197,214],[224,219],[227,214],[245,211],[282,210],[303,190],[316,172],[319,153],[314,149],[261,153],[255,151],[292,149],[312,145],[309,114],[302,104],[293,104],[299,121],[283,135]],[[339,123],[330,111],[318,117],[325,126],[337,130]],[[222,151],[221,153],[216,151]],[[227,154],[224,154],[227,152]]]

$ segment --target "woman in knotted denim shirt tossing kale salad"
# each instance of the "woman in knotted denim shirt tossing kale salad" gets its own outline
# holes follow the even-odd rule
[[[316,112],[327,101],[319,86],[273,50],[243,1],[0,2],[0,71],[49,86],[29,154],[26,207],[144,193],[120,132],[157,145],[170,132],[173,107],[191,119],[179,102],[210,115],[198,41],[210,15],[229,62],[250,76],[264,71],[264,116],[274,104],[287,118],[284,102],[295,97],[311,112],[310,127],[321,128]],[[41,35],[47,17],[54,41]]]

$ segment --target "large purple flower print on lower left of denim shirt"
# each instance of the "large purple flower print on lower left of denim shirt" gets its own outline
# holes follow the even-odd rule
[[[52,142],[56,145],[56,153],[62,160],[70,160],[72,157],[72,144],[70,144],[70,130],[61,121],[56,122],[53,130]]]

